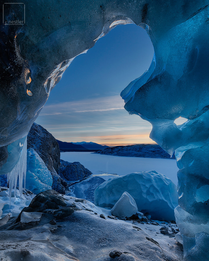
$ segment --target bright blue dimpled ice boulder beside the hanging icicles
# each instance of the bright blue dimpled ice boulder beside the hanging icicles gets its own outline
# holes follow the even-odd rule
[[[51,189],[52,176],[39,155],[32,149],[27,150],[26,189],[34,194]]]

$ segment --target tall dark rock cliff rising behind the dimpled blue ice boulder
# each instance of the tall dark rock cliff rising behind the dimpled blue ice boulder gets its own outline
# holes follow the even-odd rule
[[[67,183],[58,175],[60,168],[60,148],[57,140],[41,125],[33,123],[27,137],[28,148],[33,148],[51,172],[52,189],[65,194]]]

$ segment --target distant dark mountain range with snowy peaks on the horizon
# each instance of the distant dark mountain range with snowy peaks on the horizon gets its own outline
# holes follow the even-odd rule
[[[95,142],[62,142],[57,140],[61,151],[95,151],[109,148],[107,145],[100,145]]]

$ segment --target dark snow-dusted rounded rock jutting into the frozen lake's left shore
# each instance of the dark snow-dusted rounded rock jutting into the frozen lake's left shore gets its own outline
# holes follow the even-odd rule
[[[80,162],[70,163],[64,160],[60,160],[59,175],[63,179],[70,181],[82,180],[85,177],[90,176],[91,174],[91,171],[80,164]]]

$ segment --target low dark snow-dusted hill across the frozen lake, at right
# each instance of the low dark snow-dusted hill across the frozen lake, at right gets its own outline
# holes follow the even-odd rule
[[[109,147],[95,153],[126,157],[175,159],[174,155],[171,157],[157,144],[136,144]]]

